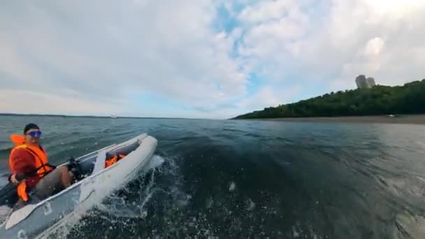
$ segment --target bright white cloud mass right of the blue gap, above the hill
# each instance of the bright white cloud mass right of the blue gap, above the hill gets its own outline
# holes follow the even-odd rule
[[[329,90],[347,89],[359,74],[403,84],[425,75],[424,13],[425,1],[415,0],[262,1],[240,12],[240,54],[263,78],[287,85],[323,79]]]

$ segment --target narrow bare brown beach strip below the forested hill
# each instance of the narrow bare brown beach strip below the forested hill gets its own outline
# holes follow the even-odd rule
[[[246,119],[245,119],[246,120]],[[345,122],[345,123],[380,123],[380,124],[425,124],[425,115],[388,115],[373,116],[336,116],[336,117],[293,117],[293,118],[264,118],[247,119],[261,121],[283,121],[283,122]]]

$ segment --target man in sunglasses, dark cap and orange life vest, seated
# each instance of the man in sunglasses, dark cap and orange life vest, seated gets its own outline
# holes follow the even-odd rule
[[[9,181],[17,185],[20,201],[28,201],[28,192],[33,190],[37,198],[48,198],[69,187],[73,180],[66,166],[55,168],[48,164],[48,155],[39,143],[40,137],[41,131],[36,124],[27,124],[23,136],[10,136],[15,147],[9,157]]]

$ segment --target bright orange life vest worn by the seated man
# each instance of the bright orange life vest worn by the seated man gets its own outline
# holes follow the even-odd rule
[[[10,139],[15,143],[15,147],[10,152],[10,156],[12,156],[13,152],[17,149],[27,150],[34,157],[38,177],[43,178],[44,175],[53,170],[52,167],[48,166],[48,154],[44,151],[43,147],[26,145],[24,137],[16,134],[11,135]],[[12,157],[9,157],[9,166],[11,170],[13,170],[12,162]],[[22,198],[23,201],[28,201],[27,184],[25,181],[18,184],[17,195]]]

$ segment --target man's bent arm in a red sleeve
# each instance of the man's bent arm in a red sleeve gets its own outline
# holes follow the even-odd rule
[[[12,183],[17,183],[19,180],[16,180],[16,174],[29,173],[36,169],[34,156],[24,149],[17,149],[10,155],[12,158],[11,164],[12,168],[10,168],[11,173],[9,176],[9,181]]]

